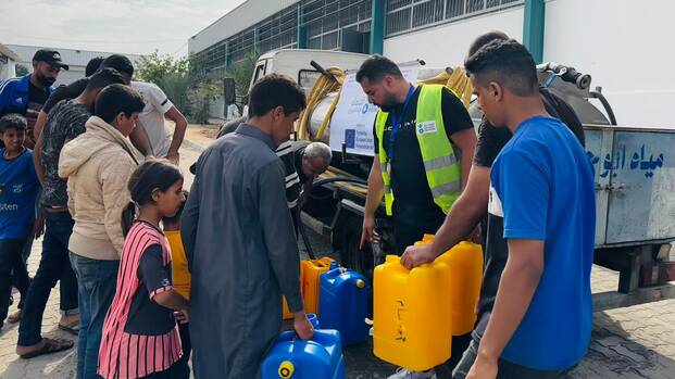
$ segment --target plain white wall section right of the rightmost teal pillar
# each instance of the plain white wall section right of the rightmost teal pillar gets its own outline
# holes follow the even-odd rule
[[[675,128],[674,13],[666,0],[547,1],[543,60],[590,74],[620,125]]]

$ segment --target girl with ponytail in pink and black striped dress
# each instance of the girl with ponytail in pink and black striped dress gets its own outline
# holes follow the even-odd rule
[[[160,220],[173,217],[185,201],[183,175],[167,161],[150,160],[132,174],[128,188],[133,202],[123,215],[126,239],[115,298],[103,323],[98,374],[105,379],[170,378],[183,355],[174,316],[187,323],[187,300],[172,286]]]

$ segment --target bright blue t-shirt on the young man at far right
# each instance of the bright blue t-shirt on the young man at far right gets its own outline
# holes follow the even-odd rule
[[[504,239],[546,241],[543,273],[501,357],[541,370],[568,368],[580,361],[590,340],[592,167],[570,128],[536,116],[515,130],[495,161],[490,180],[488,211],[503,217]]]

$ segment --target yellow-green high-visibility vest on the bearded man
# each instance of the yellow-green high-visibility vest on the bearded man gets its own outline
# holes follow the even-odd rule
[[[462,167],[446,134],[441,106],[442,89],[443,86],[440,85],[422,86],[417,99],[415,135],[434,202],[445,214],[448,214],[450,206],[460,195]],[[388,116],[389,114],[382,110],[377,113],[375,130],[379,141],[379,164],[385,184],[385,205],[387,215],[390,216],[393,205],[391,162],[389,162],[385,149],[385,143],[389,143],[389,141],[384,140]]]

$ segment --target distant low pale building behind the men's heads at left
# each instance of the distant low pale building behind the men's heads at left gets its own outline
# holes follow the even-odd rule
[[[21,58],[16,64],[21,64],[28,68],[28,72],[33,72],[33,55],[36,51],[40,49],[53,49],[61,53],[61,60],[63,63],[70,66],[68,71],[61,71],[59,73],[59,78],[57,79],[55,86],[59,85],[67,85],[79,78],[85,77],[85,67],[90,59],[96,56],[108,56],[113,54],[112,52],[102,52],[102,51],[87,51],[87,50],[75,50],[75,49],[61,49],[61,48],[52,48],[52,47],[38,47],[38,46],[22,46],[22,45],[8,45],[8,47],[16,52],[16,54]],[[136,60],[139,55],[135,54],[123,54],[132,60],[132,63],[136,64]]]

